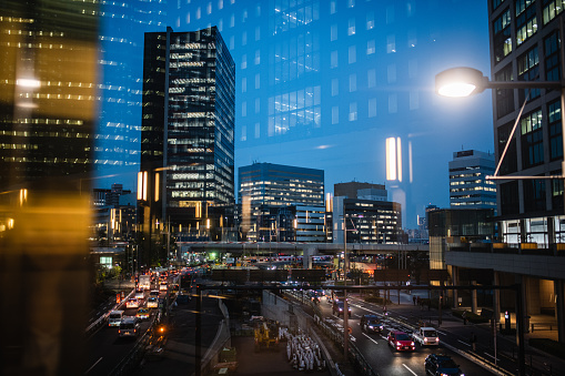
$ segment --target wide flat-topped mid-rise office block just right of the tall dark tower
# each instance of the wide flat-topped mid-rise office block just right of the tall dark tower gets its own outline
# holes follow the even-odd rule
[[[273,227],[272,230],[279,234],[281,223],[287,223],[291,227],[294,221],[286,220],[289,216],[286,211],[282,211],[284,213],[282,219],[279,210],[294,206],[292,216],[296,219],[294,222],[296,234],[302,234],[303,238],[310,237],[321,242],[324,240],[324,171],[254,163],[239,169],[238,192],[243,237],[271,240],[271,236],[261,235],[262,228],[270,234],[270,227]],[[273,211],[276,211],[275,215],[271,214]],[[266,222],[263,220],[268,214],[270,217],[276,217],[271,226],[265,225]],[[280,236],[275,235],[275,238]]]

